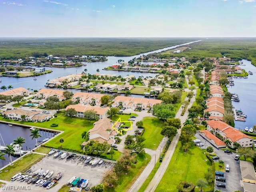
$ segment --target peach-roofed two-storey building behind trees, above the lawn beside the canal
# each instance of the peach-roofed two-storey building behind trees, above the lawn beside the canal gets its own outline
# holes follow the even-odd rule
[[[102,108],[100,106],[91,106],[90,104],[78,104],[78,105],[69,105],[66,107],[65,110],[68,110],[70,108],[74,108],[77,112],[76,117],[81,117],[81,118],[90,118],[90,117],[86,117],[84,116],[84,112],[88,111],[88,110],[94,110],[96,112],[96,116],[99,119],[105,118],[107,117],[107,111],[110,109],[109,107],[105,107]]]

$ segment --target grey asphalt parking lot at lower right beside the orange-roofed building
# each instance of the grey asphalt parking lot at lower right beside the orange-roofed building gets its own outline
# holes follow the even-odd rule
[[[204,144],[204,146],[212,146],[208,141],[206,141],[202,136],[200,136],[198,133],[196,134],[196,138],[200,139],[201,142]],[[215,188],[214,190],[221,190],[224,192],[234,192],[236,190],[244,191],[244,188],[242,187],[242,176],[241,176],[241,170],[239,161],[234,160],[236,154],[232,153],[224,153],[222,150],[218,150],[216,147],[212,146],[214,148],[214,152],[218,157],[220,157],[220,160],[224,161],[225,166],[226,164],[229,164],[230,171],[224,172],[224,177],[226,178],[226,182],[220,182],[215,180]],[[214,160],[214,162],[218,162],[219,160]],[[216,171],[218,169],[216,168]],[[225,188],[217,187],[217,183],[224,183],[226,184]]]

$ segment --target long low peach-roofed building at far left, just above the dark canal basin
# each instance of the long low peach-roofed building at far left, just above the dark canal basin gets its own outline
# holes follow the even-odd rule
[[[11,120],[18,120],[21,121],[22,115],[25,115],[24,121],[33,121],[33,122],[44,122],[50,118],[52,118],[52,115],[50,114],[45,114],[40,111],[28,111],[24,109],[12,109],[12,110],[7,110],[5,112],[2,112],[3,116],[8,117]]]

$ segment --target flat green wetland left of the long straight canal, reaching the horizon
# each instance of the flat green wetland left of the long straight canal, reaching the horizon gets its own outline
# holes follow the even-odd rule
[[[198,38],[1,38],[0,57],[32,56],[33,52],[54,56],[133,56],[183,44]],[[41,43],[41,44],[40,44]]]

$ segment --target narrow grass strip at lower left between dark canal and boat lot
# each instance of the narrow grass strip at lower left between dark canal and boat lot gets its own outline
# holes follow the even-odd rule
[[[14,176],[15,174],[17,174],[19,172],[26,171],[32,165],[39,162],[43,157],[44,157],[44,155],[34,154],[34,153],[23,156],[22,160],[18,160],[16,162],[14,162],[13,166],[8,166],[8,167],[4,168],[1,171],[0,179],[9,181],[12,178],[12,176]],[[7,158],[6,160],[9,161],[10,158]]]

